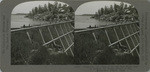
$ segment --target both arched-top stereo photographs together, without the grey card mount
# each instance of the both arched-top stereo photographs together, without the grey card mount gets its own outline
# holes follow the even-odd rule
[[[33,4],[34,3],[34,4]],[[139,64],[139,18],[125,2],[33,1],[11,15],[12,65]]]

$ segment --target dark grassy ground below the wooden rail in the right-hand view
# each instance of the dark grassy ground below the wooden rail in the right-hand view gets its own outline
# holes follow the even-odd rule
[[[107,29],[111,42],[117,41],[112,28]],[[125,29],[124,29],[125,31]],[[131,31],[131,30],[130,30]],[[95,41],[92,33],[95,33],[97,41]],[[119,38],[123,38],[123,35],[117,27],[117,33]],[[125,31],[127,35],[127,32]],[[134,48],[130,38],[127,38],[132,49]],[[136,40],[133,40],[136,44]],[[126,51],[122,49],[118,43],[109,47],[108,38],[103,29],[87,31],[75,34],[75,64],[98,64],[98,65],[110,65],[110,64],[139,64],[139,57],[136,51],[129,53],[129,48],[125,40],[121,41]]]

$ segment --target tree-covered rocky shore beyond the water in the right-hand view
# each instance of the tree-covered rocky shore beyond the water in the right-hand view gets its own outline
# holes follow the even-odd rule
[[[117,23],[134,22],[138,21],[138,12],[133,5],[121,2],[119,5],[114,4],[99,9],[92,18]]]

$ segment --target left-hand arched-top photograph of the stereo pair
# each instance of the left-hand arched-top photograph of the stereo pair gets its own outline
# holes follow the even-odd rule
[[[57,1],[30,1],[11,15],[11,65],[65,65],[74,61],[74,10]]]

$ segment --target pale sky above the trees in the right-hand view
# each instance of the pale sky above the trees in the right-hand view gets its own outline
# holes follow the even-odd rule
[[[75,15],[95,14],[95,12],[97,12],[98,9],[105,7],[105,6],[114,5],[114,4],[120,4],[120,2],[117,2],[117,1],[93,1],[93,2],[84,3],[77,8]],[[125,4],[130,5],[129,3],[125,3]]]

